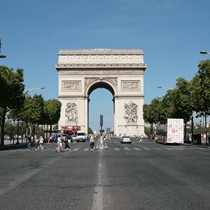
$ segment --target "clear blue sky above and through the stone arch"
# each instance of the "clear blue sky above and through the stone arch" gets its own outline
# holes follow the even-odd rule
[[[47,99],[58,97],[55,64],[60,49],[143,49],[145,103],[191,80],[210,51],[209,0],[0,0],[0,65],[23,68],[26,89]],[[32,94],[32,92],[31,92]],[[90,127],[113,126],[112,95],[90,96]]]

